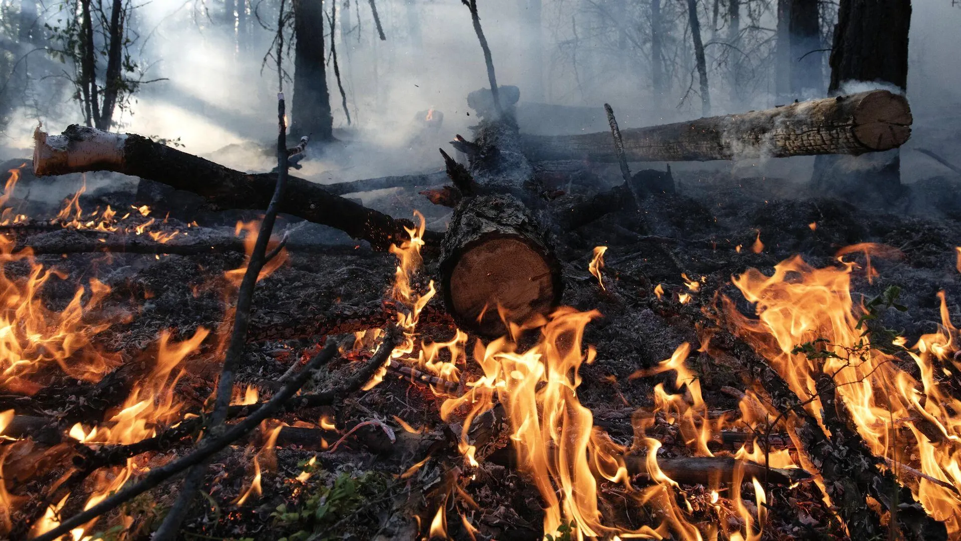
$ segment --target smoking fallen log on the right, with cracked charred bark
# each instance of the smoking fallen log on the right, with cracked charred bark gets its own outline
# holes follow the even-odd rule
[[[872,90],[766,111],[622,130],[629,161],[705,161],[859,155],[898,148],[911,136],[903,96]],[[522,135],[530,160],[617,161],[610,133]]]

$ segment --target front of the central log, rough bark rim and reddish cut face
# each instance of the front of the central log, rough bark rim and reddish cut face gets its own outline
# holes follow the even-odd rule
[[[442,244],[440,283],[457,327],[486,337],[504,335],[508,321],[549,314],[560,301],[560,265],[546,230],[509,195],[461,204]]]

